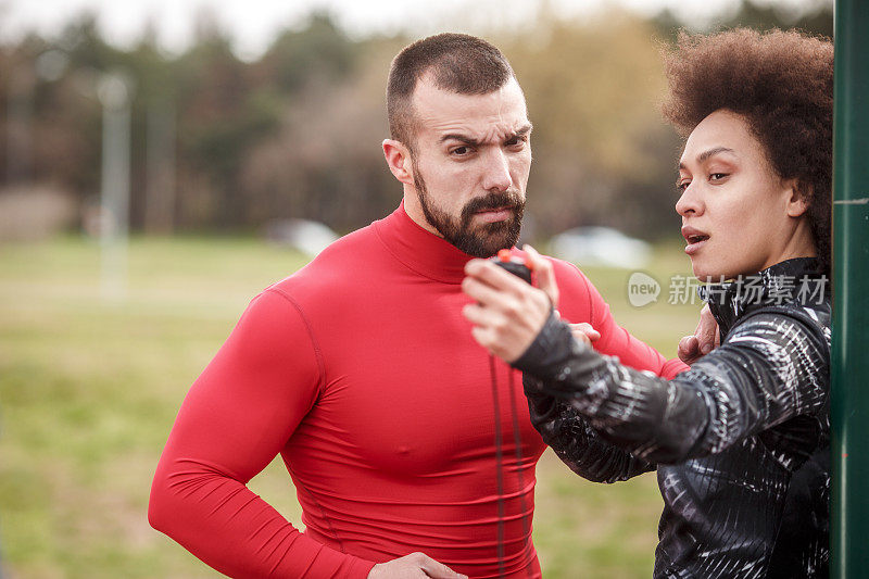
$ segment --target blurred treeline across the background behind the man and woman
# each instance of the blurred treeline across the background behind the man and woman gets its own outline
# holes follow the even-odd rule
[[[725,25],[829,35],[831,4],[811,0],[783,12],[747,1]],[[541,5],[524,29],[490,35],[513,62],[534,123],[528,213],[536,236],[584,224],[669,235],[678,223],[679,139],[657,111],[659,48],[683,25],[681,15],[609,11],[563,21]],[[251,230],[270,218],[305,217],[354,229],[401,196],[380,141],[389,63],[407,41],[351,39],[315,13],[244,62],[203,11],[192,46],[173,56],[160,50],[153,26],[121,50],[84,13],[56,38],[0,46],[3,182],[49,182],[81,201],[95,196],[96,87],[101,75],[121,71],[135,85],[134,228]]]

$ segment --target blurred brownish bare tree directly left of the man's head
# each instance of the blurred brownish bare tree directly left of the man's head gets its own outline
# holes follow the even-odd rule
[[[388,136],[383,87],[388,63],[405,39],[361,42],[341,84],[311,78],[294,96],[280,131],[245,162],[244,191],[257,223],[315,218],[348,231],[398,205],[395,182],[380,150]]]

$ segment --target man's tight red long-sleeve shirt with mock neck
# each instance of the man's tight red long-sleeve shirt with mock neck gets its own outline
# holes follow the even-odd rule
[[[158,465],[151,524],[234,577],[366,577],[423,551],[498,577],[490,360],[462,316],[468,255],[399,207],[257,295],[188,393]],[[576,267],[555,262],[562,316],[596,348],[670,377],[679,362],[618,327]],[[496,364],[507,577],[539,577],[531,543],[544,444]],[[245,483],[280,453],[306,530]]]

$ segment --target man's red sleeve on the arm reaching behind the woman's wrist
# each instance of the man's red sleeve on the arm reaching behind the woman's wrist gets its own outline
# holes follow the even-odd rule
[[[558,267],[559,263],[566,264],[566,267]],[[567,262],[553,262],[553,265],[555,265],[556,275],[562,274],[557,276],[562,295],[561,313],[568,322],[589,322],[594,329],[601,332],[601,339],[594,343],[596,351],[609,356],[617,356],[627,366],[653,372],[668,380],[688,369],[681,360],[665,358],[657,350],[638,340],[619,326],[609,311],[609,304],[604,301],[597,289],[579,268]],[[571,294],[585,298],[582,300],[583,309],[578,309],[576,302],[567,303],[570,301]]]

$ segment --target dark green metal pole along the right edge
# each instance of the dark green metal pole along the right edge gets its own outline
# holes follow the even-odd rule
[[[831,576],[869,577],[869,2],[836,0]]]

